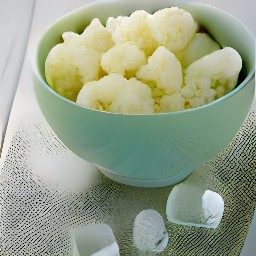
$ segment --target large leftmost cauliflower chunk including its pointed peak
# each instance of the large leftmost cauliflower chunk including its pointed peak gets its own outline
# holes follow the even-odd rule
[[[112,35],[93,19],[81,35],[65,32],[45,62],[48,84],[60,95],[75,101],[84,83],[102,76],[101,55],[112,46]]]

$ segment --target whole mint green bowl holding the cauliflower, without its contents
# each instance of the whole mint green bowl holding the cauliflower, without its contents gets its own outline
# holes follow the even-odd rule
[[[46,83],[44,62],[65,31],[82,32],[98,17],[153,12],[170,6],[189,11],[222,45],[243,59],[242,82],[228,95],[196,109],[153,115],[100,112],[76,105]],[[59,139],[103,174],[123,184],[160,187],[175,184],[224,149],[235,136],[255,94],[255,39],[239,20],[224,11],[196,3],[104,1],[61,17],[43,34],[32,68],[37,101]],[[86,170],[85,170],[86,171]]]

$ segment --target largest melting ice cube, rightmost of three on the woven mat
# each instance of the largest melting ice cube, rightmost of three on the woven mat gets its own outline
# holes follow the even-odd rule
[[[166,205],[167,219],[186,226],[217,228],[223,212],[218,193],[184,183],[173,188]]]

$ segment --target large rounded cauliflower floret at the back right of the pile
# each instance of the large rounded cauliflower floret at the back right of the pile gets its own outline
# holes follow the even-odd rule
[[[158,45],[165,46],[172,52],[184,49],[198,28],[192,15],[178,7],[155,12],[150,25]]]

